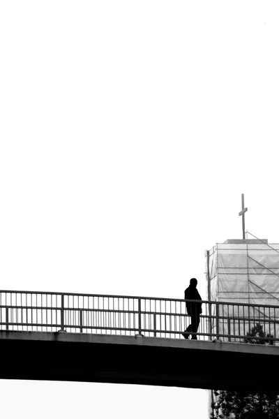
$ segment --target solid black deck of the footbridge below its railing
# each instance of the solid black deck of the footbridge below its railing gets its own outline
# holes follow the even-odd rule
[[[279,348],[153,337],[0,331],[0,378],[279,394]],[[277,356],[276,356],[277,355]]]

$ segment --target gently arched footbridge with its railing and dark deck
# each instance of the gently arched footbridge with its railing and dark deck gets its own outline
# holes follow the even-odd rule
[[[202,310],[198,339],[186,340],[185,300],[0,291],[0,378],[279,394],[279,307]]]

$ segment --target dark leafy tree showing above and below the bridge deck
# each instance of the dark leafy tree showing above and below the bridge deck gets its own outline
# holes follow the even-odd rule
[[[250,344],[270,344],[272,338],[266,334],[262,325],[257,323],[243,339]],[[279,396],[261,393],[247,394],[227,390],[215,391],[216,401],[211,404],[211,419],[279,419]]]

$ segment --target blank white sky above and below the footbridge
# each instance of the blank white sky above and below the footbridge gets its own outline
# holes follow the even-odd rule
[[[277,1],[1,1],[1,289],[206,298],[279,242]],[[187,360],[186,360],[187,362]],[[5,418],[207,418],[204,390],[0,381]],[[186,406],[188,410],[186,411]]]

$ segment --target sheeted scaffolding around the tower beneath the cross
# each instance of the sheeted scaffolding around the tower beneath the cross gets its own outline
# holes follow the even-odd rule
[[[248,235],[254,238],[250,239]],[[263,326],[266,334],[279,335],[279,325],[275,320],[279,316],[279,244],[269,244],[268,240],[260,240],[248,232],[244,240],[216,243],[210,251],[206,251],[206,279],[208,300],[228,303],[223,316],[231,317],[232,321],[220,318],[218,327],[223,334],[235,334],[237,321],[238,330],[240,327],[243,335],[257,323]],[[247,306],[238,321],[229,302],[252,304],[254,307]],[[257,304],[274,308],[263,312]],[[216,328],[216,313],[212,316],[209,328],[213,331]],[[271,320],[274,320],[272,328]],[[233,341],[229,337],[225,340]]]

